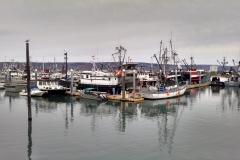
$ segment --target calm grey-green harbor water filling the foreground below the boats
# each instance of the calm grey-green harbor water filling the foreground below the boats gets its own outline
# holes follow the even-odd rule
[[[0,159],[239,160],[240,89],[142,103],[0,91]]]

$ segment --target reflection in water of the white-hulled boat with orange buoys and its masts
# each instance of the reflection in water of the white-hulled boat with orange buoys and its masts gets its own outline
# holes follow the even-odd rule
[[[140,104],[141,115],[149,120],[156,120],[160,150],[166,148],[171,153],[175,132],[187,105],[184,95],[165,100],[144,100]]]

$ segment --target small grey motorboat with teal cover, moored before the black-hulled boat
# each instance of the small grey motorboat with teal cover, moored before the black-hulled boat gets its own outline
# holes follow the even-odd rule
[[[81,98],[92,99],[92,100],[106,100],[107,92],[95,91],[95,88],[85,88],[78,90]]]

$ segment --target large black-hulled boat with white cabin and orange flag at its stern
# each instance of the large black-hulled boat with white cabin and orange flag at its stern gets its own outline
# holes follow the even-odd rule
[[[120,93],[123,85],[123,74],[125,88],[132,87],[134,81],[135,84],[138,84],[139,78],[137,78],[137,74],[135,79],[133,79],[133,73],[135,73],[135,67],[138,64],[125,62],[124,58],[121,59],[122,57],[125,57],[121,56],[121,54],[126,54],[126,50],[122,46],[116,47],[116,51],[117,52],[113,54],[113,58],[115,60],[114,55],[119,56],[119,63],[116,62],[112,67],[108,66],[108,70],[103,70],[103,65],[96,68],[95,56],[92,56],[92,70],[80,72],[77,89],[82,90],[84,88],[98,88],[98,91],[102,92],[109,92],[113,94],[114,90],[116,93]]]

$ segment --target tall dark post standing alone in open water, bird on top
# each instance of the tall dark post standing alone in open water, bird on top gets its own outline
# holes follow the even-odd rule
[[[29,40],[26,40],[26,60],[27,60],[27,93],[28,93],[28,120],[32,120],[31,91],[30,91],[30,66],[29,66]]]

